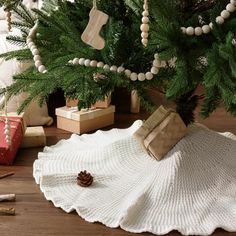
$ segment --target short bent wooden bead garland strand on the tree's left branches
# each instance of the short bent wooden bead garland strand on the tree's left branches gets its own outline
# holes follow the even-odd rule
[[[37,27],[38,27],[38,24],[36,23],[34,27],[30,30],[29,35],[26,39],[26,43],[32,55],[34,56],[33,60],[34,60],[35,67],[38,69],[40,73],[47,73],[46,67],[42,63],[39,50],[37,49],[37,46],[33,41],[36,36]]]

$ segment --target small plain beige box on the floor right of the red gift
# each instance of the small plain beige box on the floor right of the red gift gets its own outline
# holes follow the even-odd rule
[[[46,135],[42,126],[27,127],[21,142],[21,148],[46,146]]]

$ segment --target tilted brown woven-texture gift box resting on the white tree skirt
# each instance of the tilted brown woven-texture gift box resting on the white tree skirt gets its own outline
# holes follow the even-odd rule
[[[187,128],[179,114],[160,106],[134,136],[151,156],[161,160],[186,132]]]

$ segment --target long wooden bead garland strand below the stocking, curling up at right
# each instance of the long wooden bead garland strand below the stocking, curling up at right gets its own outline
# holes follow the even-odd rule
[[[146,73],[136,73],[124,68],[123,66],[119,67],[117,67],[116,65],[109,66],[107,64],[104,64],[104,62],[102,61],[97,62],[96,60],[90,60],[85,58],[74,58],[73,60],[70,60],[68,63],[72,65],[80,65],[86,67],[103,68],[106,71],[112,71],[115,73],[124,72],[125,75],[132,81],[152,80],[154,75],[157,75],[159,73],[159,69],[161,67],[161,60],[158,54],[154,55],[151,71],[148,71]]]

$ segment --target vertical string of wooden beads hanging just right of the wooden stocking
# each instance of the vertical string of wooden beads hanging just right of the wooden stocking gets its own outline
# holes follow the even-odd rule
[[[142,13],[142,24],[140,26],[141,30],[141,37],[142,37],[142,44],[147,47],[148,43],[148,32],[149,32],[149,11],[148,11],[148,2],[147,0],[144,0],[144,5],[143,5],[143,13]]]

